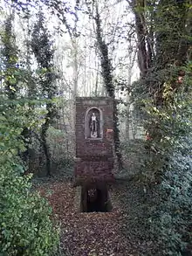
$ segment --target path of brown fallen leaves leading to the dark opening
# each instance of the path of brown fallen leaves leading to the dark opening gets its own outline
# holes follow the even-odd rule
[[[70,256],[136,256],[130,253],[128,241],[120,232],[123,213],[119,202],[106,213],[75,211],[74,193],[70,183],[55,182],[39,189],[47,195],[61,223],[61,247]],[[111,195],[115,202],[117,191]]]

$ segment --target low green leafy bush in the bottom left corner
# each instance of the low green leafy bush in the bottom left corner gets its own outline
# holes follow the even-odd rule
[[[0,169],[0,252],[2,255],[45,256],[55,249],[58,231],[51,222],[51,208],[31,191],[31,176],[6,161]]]

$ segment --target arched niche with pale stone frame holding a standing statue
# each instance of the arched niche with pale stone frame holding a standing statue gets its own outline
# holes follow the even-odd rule
[[[99,140],[103,137],[103,114],[98,107],[86,110],[85,137],[88,140]]]

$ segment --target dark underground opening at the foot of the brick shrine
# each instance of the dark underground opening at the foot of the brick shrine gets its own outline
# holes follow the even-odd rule
[[[112,204],[106,185],[85,185],[81,187],[81,211],[82,212],[108,212],[112,210]]]

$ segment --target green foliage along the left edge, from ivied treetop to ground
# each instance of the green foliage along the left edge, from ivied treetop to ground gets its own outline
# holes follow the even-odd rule
[[[58,228],[51,208],[31,189],[31,176],[24,176],[20,160],[28,136],[24,129],[37,130],[42,122],[36,101],[21,97],[23,69],[18,65],[11,17],[2,35],[3,51],[0,98],[0,255],[45,256],[58,245]],[[38,103],[39,104],[39,103]]]

